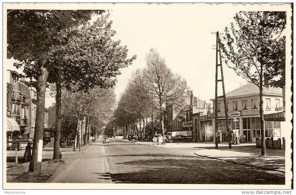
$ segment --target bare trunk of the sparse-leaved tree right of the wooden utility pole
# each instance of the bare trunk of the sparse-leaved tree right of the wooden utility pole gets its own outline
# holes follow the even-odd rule
[[[261,73],[262,73],[262,66],[261,66]],[[260,125],[261,125],[261,156],[266,156],[266,146],[265,146],[265,122],[264,122],[264,116],[263,116],[263,76],[261,74],[260,76],[260,103],[259,103],[259,112],[260,112]]]

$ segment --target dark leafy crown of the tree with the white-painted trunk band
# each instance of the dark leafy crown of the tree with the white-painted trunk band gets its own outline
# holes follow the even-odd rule
[[[39,68],[54,66],[52,51],[72,36],[76,27],[104,10],[14,9],[7,14],[7,57],[18,60],[25,77],[37,80]],[[35,85],[31,80],[29,85]]]

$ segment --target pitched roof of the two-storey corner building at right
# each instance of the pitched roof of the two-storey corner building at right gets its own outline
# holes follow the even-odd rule
[[[244,95],[250,95],[250,94],[259,94],[259,87],[256,86],[254,83],[248,83],[244,86],[241,86],[237,89],[234,89],[233,91],[228,92],[225,94],[226,97],[234,97],[234,96],[244,96]],[[275,88],[275,87],[269,87],[266,88],[263,86],[263,94],[278,94],[282,95],[282,89],[281,88]]]

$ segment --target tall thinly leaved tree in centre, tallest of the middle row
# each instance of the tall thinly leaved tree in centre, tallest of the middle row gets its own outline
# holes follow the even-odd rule
[[[165,104],[173,105],[173,109],[179,112],[184,107],[187,96],[187,82],[167,67],[165,59],[160,57],[154,48],[146,55],[146,64],[147,67],[143,70],[144,84],[139,86],[145,86],[143,90],[146,90],[147,94],[152,94],[158,101],[155,109],[160,112],[160,125],[164,137]]]

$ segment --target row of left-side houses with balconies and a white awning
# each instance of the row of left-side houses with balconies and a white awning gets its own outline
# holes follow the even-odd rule
[[[7,70],[7,129],[8,141],[29,140],[33,141],[36,120],[37,92],[35,88],[28,87],[25,79],[13,70]],[[49,112],[50,111],[50,112]],[[44,115],[44,144],[50,143],[53,136],[50,135],[50,128],[53,123],[50,120],[51,112],[55,109],[45,108]],[[47,140],[47,141],[46,141]]]

